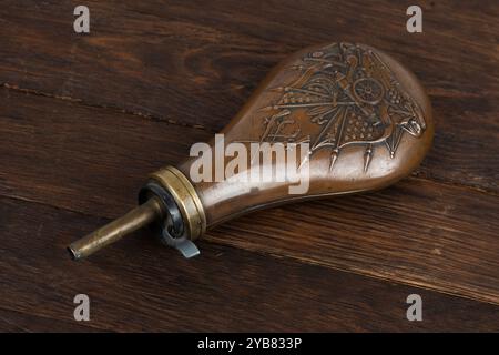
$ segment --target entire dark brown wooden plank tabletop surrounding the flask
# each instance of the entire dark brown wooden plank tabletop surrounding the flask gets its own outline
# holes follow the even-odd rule
[[[499,331],[499,6],[417,2],[422,33],[406,31],[413,1],[3,0],[0,331]],[[90,34],[73,31],[80,3]],[[411,176],[240,217],[194,260],[145,231],[70,261],[279,60],[333,41],[427,88],[436,135]]]

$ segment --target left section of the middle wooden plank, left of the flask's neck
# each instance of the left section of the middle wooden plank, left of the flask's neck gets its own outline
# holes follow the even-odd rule
[[[95,215],[115,217],[135,204],[151,172],[210,136],[116,111],[0,92],[1,191]]]

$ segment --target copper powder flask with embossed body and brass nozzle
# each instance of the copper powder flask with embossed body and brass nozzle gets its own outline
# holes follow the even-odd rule
[[[89,256],[152,222],[161,226],[165,244],[191,257],[200,253],[193,242],[206,229],[241,214],[383,189],[419,165],[430,148],[434,123],[428,97],[409,70],[379,50],[342,42],[288,57],[221,133],[224,144],[307,144],[299,165],[307,165],[306,193],[289,193],[296,183],[286,180],[236,179],[247,176],[241,165],[231,179],[198,181],[192,172],[200,158],[190,156],[176,168],[152,173],[139,194],[139,206],[72,243],[72,257]],[[213,152],[216,144],[208,144]],[[212,161],[225,171],[231,160],[215,154]],[[258,164],[262,171],[283,169],[273,159],[258,159]]]

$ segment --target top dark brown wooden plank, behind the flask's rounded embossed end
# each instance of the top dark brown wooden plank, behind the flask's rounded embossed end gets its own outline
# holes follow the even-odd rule
[[[396,1],[85,4],[90,36],[72,31],[71,1],[3,1],[0,83],[213,133],[286,54],[366,42],[428,88],[437,133],[419,176],[498,191],[497,1],[421,2],[421,34],[407,33],[408,4]]]

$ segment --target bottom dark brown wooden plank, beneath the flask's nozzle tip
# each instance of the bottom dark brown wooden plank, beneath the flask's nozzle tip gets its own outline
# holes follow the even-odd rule
[[[496,305],[206,242],[187,261],[142,233],[70,261],[68,240],[103,222],[0,199],[0,328],[74,329],[85,293],[95,331],[499,331]],[[413,293],[422,322],[406,320]]]

